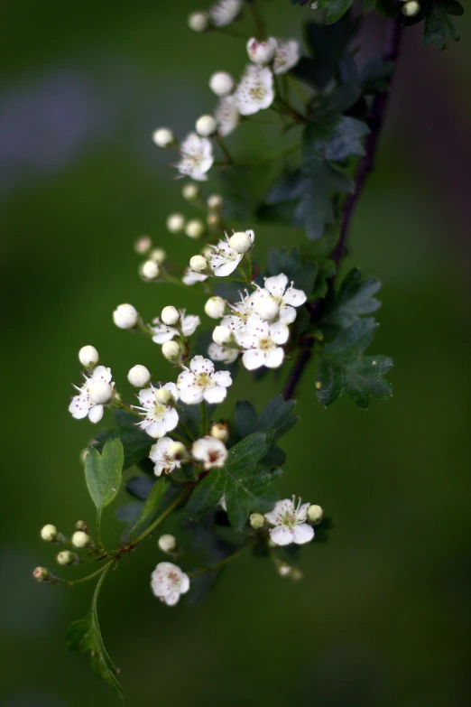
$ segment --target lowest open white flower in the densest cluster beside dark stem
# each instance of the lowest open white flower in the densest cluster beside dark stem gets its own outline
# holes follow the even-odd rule
[[[261,366],[278,368],[282,365],[284,351],[280,344],[285,344],[290,336],[290,330],[282,321],[271,324],[251,314],[245,329],[235,330],[234,334],[239,346],[247,349],[242,362],[249,371]]]

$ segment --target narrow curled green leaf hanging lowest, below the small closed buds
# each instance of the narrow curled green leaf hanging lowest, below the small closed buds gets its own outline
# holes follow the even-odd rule
[[[91,607],[85,619],[78,619],[70,624],[66,636],[66,644],[70,651],[87,653],[90,651],[90,661],[93,672],[111,687],[121,702],[125,702],[125,695],[121,685],[116,679],[119,673],[110,656],[106,652],[103,638],[98,623],[97,600],[101,585],[105,580],[106,570],[97,581],[97,588],[93,594]]]

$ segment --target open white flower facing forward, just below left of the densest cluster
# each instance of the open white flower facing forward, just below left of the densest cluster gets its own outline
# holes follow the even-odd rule
[[[196,405],[206,400],[208,403],[222,403],[227,395],[226,388],[232,385],[228,371],[215,371],[208,358],[195,356],[180,373],[177,386],[180,400],[187,405]]]

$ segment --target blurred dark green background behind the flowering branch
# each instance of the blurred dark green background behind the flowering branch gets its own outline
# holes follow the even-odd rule
[[[126,395],[135,363],[173,377],[159,349],[117,330],[111,312],[133,302],[149,319],[188,303],[183,291],[139,280],[132,244],[150,233],[180,263],[194,252],[164,228],[171,210],[191,208],[150,135],[162,125],[183,135],[213,107],[210,73],[244,66],[241,40],[189,32],[193,9],[190,0],[37,0],[2,13],[1,707],[116,703],[88,659],[64,646],[92,587],[38,585],[31,571],[53,567],[43,524],[70,532],[93,516],[78,455],[96,428],[67,412],[78,349],[97,346]],[[288,0],[268,10],[283,36],[309,17]],[[459,21],[464,37],[469,22]],[[366,24],[366,53],[382,33],[382,21]],[[394,397],[366,413],[344,398],[326,411],[311,369],[300,423],[283,440],[282,493],[328,509],[330,542],[304,548],[299,584],[247,556],[196,607],[167,609],[149,591],[163,559],[152,538],[100,598],[129,705],[469,704],[470,46],[440,54],[420,46],[417,28],[407,33],[377,172],[351,232],[345,267],[383,281],[372,350],[395,361]],[[228,144],[247,155],[257,140],[261,150],[273,143],[262,131],[241,128]],[[259,257],[269,236],[291,238],[257,233]],[[190,312],[203,302],[195,295]],[[254,399],[248,376],[237,394]],[[272,390],[255,395],[260,407]],[[111,537],[120,526],[106,516]]]

